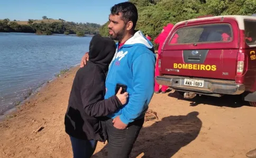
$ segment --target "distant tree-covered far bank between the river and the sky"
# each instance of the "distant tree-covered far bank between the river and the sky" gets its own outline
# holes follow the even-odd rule
[[[5,18],[0,20],[0,32],[20,32],[37,34],[84,34],[99,33],[99,24],[66,22],[63,19],[29,19],[29,21],[10,21]]]

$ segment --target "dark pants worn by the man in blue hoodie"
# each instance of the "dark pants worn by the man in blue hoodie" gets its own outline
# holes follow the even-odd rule
[[[116,129],[112,121],[113,119],[109,119],[105,122],[108,135],[107,157],[128,158],[142,128],[144,118],[130,123],[124,130]]]

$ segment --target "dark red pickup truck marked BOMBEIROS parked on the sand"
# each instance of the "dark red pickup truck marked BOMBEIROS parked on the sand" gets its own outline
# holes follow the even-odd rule
[[[256,17],[240,15],[177,23],[162,46],[157,82],[185,98],[242,94],[256,106],[255,28]]]

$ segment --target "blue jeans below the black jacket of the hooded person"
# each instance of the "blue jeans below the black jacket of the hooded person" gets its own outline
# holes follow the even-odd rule
[[[70,136],[74,158],[90,158],[97,145],[95,140],[80,140]]]

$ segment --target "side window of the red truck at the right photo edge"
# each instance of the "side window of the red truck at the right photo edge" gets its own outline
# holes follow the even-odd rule
[[[256,44],[256,21],[244,20],[245,42],[248,45]]]

